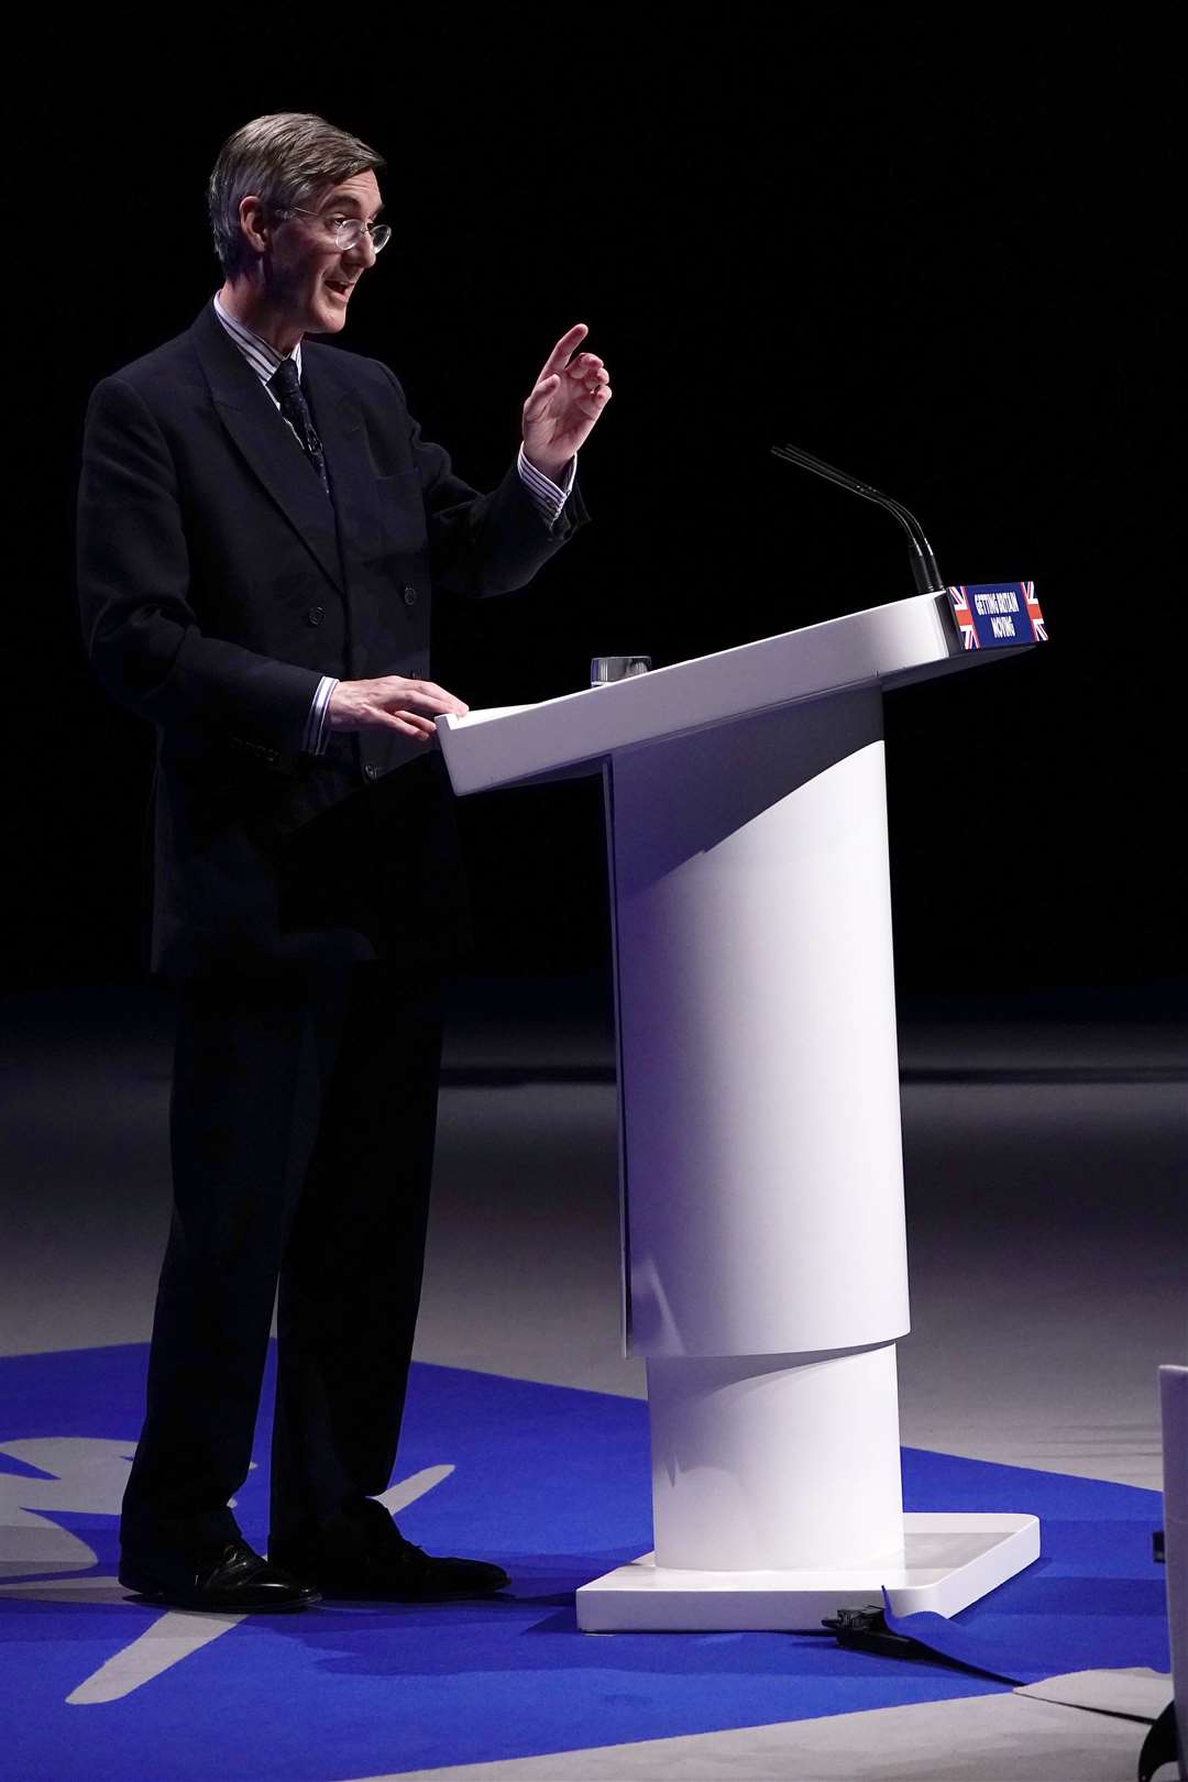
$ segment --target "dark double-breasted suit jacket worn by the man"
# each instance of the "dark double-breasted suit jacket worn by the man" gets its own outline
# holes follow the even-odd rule
[[[429,674],[433,588],[520,588],[549,533],[515,465],[481,495],[376,360],[303,342],[333,506],[212,305],[91,397],[78,597],[109,691],[159,731],[151,968],[449,955],[449,788],[395,731],[301,754],[322,674]]]

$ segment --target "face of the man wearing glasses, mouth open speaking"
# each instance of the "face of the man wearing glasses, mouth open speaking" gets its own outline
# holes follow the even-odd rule
[[[338,333],[347,319],[351,292],[376,249],[363,233],[354,248],[335,246],[340,217],[374,223],[383,208],[374,173],[354,173],[306,200],[299,216],[273,225],[265,257],[265,290],[285,321],[301,333]],[[306,216],[305,212],[313,212]]]

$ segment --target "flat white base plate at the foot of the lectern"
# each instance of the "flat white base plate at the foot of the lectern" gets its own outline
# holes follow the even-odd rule
[[[577,1591],[584,1634],[807,1632],[837,1609],[956,1614],[1040,1556],[1040,1524],[1022,1515],[905,1515],[889,1559],[826,1572],[677,1572],[645,1554]]]

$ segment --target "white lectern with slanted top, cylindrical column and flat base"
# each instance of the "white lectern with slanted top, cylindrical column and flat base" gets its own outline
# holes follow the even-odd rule
[[[905,1515],[908,1329],[883,688],[976,666],[926,593],[540,706],[438,720],[456,793],[602,772],[625,1351],[655,1552],[579,1627],[955,1614],[1029,1515]]]

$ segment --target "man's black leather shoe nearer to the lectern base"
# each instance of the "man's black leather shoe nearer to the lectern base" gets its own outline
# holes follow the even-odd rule
[[[378,1515],[376,1515],[378,1511]],[[438,1559],[406,1541],[383,1504],[367,1500],[367,1515],[305,1540],[274,1541],[269,1557],[308,1577],[324,1597],[363,1602],[460,1602],[492,1597],[509,1579],[484,1559]]]

